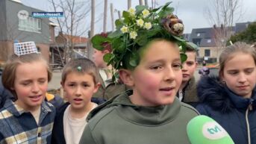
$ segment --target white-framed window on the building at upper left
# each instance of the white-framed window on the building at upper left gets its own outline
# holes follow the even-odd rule
[[[33,17],[28,17],[28,19],[19,19],[19,30],[21,31],[32,31],[40,33],[41,26],[41,19],[36,19]]]

